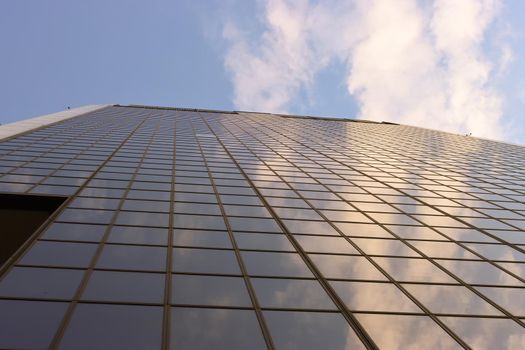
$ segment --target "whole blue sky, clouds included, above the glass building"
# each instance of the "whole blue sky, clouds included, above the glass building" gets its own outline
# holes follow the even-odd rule
[[[523,13],[519,0],[3,1],[0,122],[148,104],[525,144]]]

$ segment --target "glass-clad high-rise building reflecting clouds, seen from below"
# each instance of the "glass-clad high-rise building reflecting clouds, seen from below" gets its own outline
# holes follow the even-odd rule
[[[518,349],[525,149],[102,106],[0,127],[2,349]]]

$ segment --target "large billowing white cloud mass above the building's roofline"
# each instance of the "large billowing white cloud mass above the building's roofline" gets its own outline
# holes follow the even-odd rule
[[[501,0],[268,0],[255,39],[234,24],[226,67],[238,109],[284,112],[330,61],[359,117],[501,138],[503,98],[492,78],[512,62],[483,51]]]

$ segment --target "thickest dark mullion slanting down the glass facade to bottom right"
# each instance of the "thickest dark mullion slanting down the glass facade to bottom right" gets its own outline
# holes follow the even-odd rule
[[[205,121],[205,122],[208,125],[207,121]],[[232,134],[232,136],[236,140],[238,140],[238,142],[240,142],[242,145],[244,145],[244,142],[239,141],[239,139],[235,135],[233,135],[233,133],[228,128],[226,128],[224,126],[223,126],[223,128],[225,130],[227,130],[230,134]],[[212,128],[210,128],[210,130],[217,137],[217,134],[215,133],[215,131]],[[345,320],[347,321],[349,326],[355,331],[355,334],[357,335],[357,337],[363,342],[364,346],[367,347],[368,349],[378,349],[377,345],[372,340],[370,335],[368,335],[366,330],[361,326],[361,324],[357,321],[357,319],[354,317],[354,315],[348,311],[348,309],[346,308],[346,305],[344,304],[344,302],[340,299],[340,297],[337,295],[337,293],[335,293],[333,288],[330,286],[330,284],[327,282],[327,280],[322,275],[321,271],[319,271],[319,269],[317,269],[317,266],[310,260],[310,257],[308,256],[308,254],[306,254],[306,252],[302,249],[300,244],[295,240],[295,237],[291,234],[291,232],[287,229],[287,227],[284,225],[284,223],[280,220],[279,216],[275,213],[273,208],[266,201],[265,197],[261,194],[259,189],[253,184],[252,180],[248,177],[248,175],[246,174],[244,169],[239,165],[237,160],[232,156],[232,154],[229,152],[228,148],[226,146],[224,146],[223,142],[218,137],[217,137],[217,141],[220,143],[220,145],[225,150],[225,152],[230,156],[232,161],[237,165],[237,167],[241,171],[242,175],[245,177],[246,181],[250,184],[250,186],[255,191],[255,193],[257,194],[257,196],[259,197],[259,199],[261,200],[263,205],[266,207],[266,209],[270,212],[270,214],[272,215],[272,218],[277,222],[277,224],[279,225],[279,227],[281,228],[283,233],[286,235],[286,237],[288,238],[288,240],[290,241],[290,243],[292,244],[294,249],[296,249],[296,251],[299,254],[299,256],[305,262],[306,266],[310,269],[310,271],[312,272],[312,274],[314,275],[316,280],[323,287],[323,289],[326,291],[328,296],[332,299],[332,301],[334,302],[335,306],[337,307],[337,309],[339,310],[341,315],[345,318]],[[247,150],[249,150],[249,152],[252,153],[256,158],[259,158],[249,148],[247,148],[245,145],[244,145],[244,147]]]

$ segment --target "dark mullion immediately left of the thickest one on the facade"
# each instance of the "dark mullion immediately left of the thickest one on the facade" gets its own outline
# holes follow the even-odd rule
[[[203,121],[205,123],[205,125],[209,128],[209,126],[205,122],[204,118],[202,118],[200,116],[200,113],[198,113],[198,116],[201,119],[201,121]],[[191,122],[191,126],[192,126],[192,131],[193,131],[193,137],[195,137],[195,139],[196,139],[197,146],[199,147],[199,151],[201,153],[201,156],[202,156],[202,159],[204,161],[206,170],[208,172],[208,177],[209,177],[211,185],[213,187],[213,191],[215,192],[215,197],[217,199],[217,203],[218,203],[219,208],[221,210],[221,214],[222,214],[222,217],[223,217],[223,220],[224,220],[224,224],[226,225],[226,229],[228,231],[228,236],[230,238],[230,242],[232,244],[233,251],[234,251],[235,257],[237,259],[237,263],[239,264],[239,268],[241,270],[241,273],[242,273],[242,276],[243,276],[243,280],[244,280],[244,283],[246,285],[246,289],[248,290],[248,294],[250,295],[250,300],[252,302],[252,305],[253,305],[253,308],[254,308],[254,311],[255,311],[255,315],[256,315],[257,321],[259,323],[259,327],[260,327],[262,335],[264,337],[264,341],[265,341],[266,346],[268,347],[268,349],[275,349],[275,345],[273,344],[272,336],[270,334],[270,331],[268,330],[268,326],[266,325],[266,321],[264,319],[264,315],[262,313],[261,306],[259,304],[259,301],[257,300],[257,295],[255,293],[255,289],[252,286],[252,283],[251,283],[251,280],[250,280],[250,276],[248,274],[246,266],[244,265],[244,261],[242,259],[239,247],[237,246],[237,241],[235,240],[235,236],[233,235],[232,228],[231,228],[230,222],[228,220],[228,216],[226,215],[226,211],[224,210],[224,206],[222,204],[221,197],[220,197],[219,192],[217,190],[217,187],[215,185],[215,180],[214,180],[214,178],[212,176],[210,168],[208,167],[208,161],[207,161],[206,156],[205,156],[205,154],[203,152],[201,142],[196,136],[193,120]],[[213,133],[213,130],[211,130],[211,132]],[[215,135],[215,133],[213,133],[213,134]],[[217,143],[220,146],[220,143],[219,142],[217,142]],[[228,156],[230,156],[230,155],[228,155]],[[231,159],[231,156],[230,156],[230,159]],[[232,159],[232,161],[234,162],[233,159]],[[234,164],[238,167],[238,164],[236,164],[236,163],[234,163]],[[242,170],[239,169],[239,171],[242,171]]]

